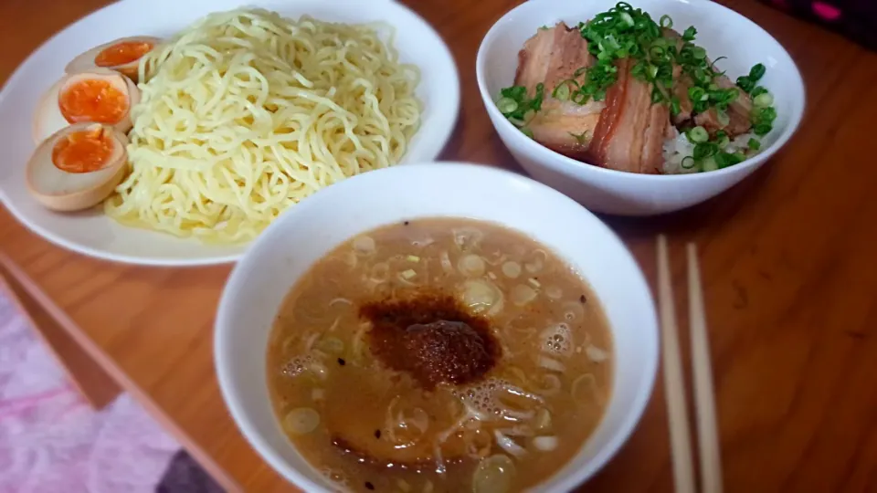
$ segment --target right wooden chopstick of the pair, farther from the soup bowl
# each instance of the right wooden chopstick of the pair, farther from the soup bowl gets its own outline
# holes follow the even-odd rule
[[[701,462],[701,491],[703,493],[722,493],[722,461],[719,457],[718,434],[715,425],[713,365],[710,362],[710,342],[706,334],[701,271],[697,261],[697,247],[693,243],[689,243],[686,249],[688,251],[689,330],[691,330],[692,337],[694,409]]]

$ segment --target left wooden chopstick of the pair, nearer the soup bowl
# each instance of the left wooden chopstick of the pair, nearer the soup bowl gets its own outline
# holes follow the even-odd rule
[[[663,235],[658,236],[658,309],[664,356],[664,393],[670,419],[673,481],[676,484],[676,493],[694,493],[692,434],[688,428],[679,330],[676,327],[676,309],[670,280],[670,257],[667,254],[667,238]]]

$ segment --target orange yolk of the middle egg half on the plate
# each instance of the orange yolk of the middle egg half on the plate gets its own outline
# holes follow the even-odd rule
[[[61,115],[70,123],[94,121],[115,124],[128,111],[128,94],[109,80],[87,79],[72,84],[58,95]]]

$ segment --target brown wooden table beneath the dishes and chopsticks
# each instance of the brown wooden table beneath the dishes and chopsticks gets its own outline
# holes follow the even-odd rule
[[[103,3],[0,3],[0,80],[54,31]],[[517,3],[411,2],[460,67],[462,114],[445,158],[514,167],[484,112],[474,67],[481,37]],[[654,235],[671,235],[680,295],[682,243],[700,245],[726,490],[877,491],[877,56],[751,0],[724,3],[764,26],[798,62],[808,112],[797,137],[762,172],[706,204],[608,222],[652,279]],[[5,209],[0,238],[6,277],[30,297],[37,323],[55,320],[60,330],[49,333],[68,338],[59,351],[82,348],[111,377],[97,401],[113,393],[108,382],[131,392],[229,490],[291,489],[238,433],[217,388],[211,328],[229,267],[81,257],[29,233]],[[684,313],[687,300],[678,298]],[[583,489],[671,488],[659,384],[629,443]]]

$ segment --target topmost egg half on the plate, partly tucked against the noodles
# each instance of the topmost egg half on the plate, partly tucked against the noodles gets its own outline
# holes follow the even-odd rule
[[[71,73],[90,68],[111,68],[136,82],[140,59],[161,41],[160,38],[151,36],[122,37],[100,47],[93,47],[73,58],[64,71]]]

